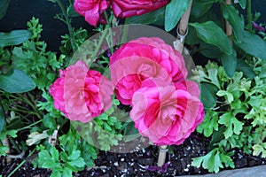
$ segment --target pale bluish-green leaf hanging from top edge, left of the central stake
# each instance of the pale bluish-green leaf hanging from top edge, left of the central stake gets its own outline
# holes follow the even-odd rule
[[[179,19],[181,19],[184,12],[190,5],[191,0],[175,0],[171,1],[165,11],[165,30],[170,31],[176,24]]]

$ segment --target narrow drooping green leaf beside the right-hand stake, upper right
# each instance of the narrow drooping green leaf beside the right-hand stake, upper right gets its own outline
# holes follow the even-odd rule
[[[244,18],[239,16],[239,11],[229,4],[223,4],[223,18],[230,23],[238,42],[242,42],[244,35]]]

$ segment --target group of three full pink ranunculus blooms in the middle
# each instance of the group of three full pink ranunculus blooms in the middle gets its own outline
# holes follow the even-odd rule
[[[180,144],[204,118],[200,89],[187,81],[184,58],[156,37],[124,43],[110,58],[112,81],[83,61],[60,72],[51,85],[54,105],[68,119],[88,122],[110,108],[113,89],[139,134],[156,145]]]

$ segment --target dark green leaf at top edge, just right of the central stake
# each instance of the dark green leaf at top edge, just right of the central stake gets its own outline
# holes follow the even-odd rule
[[[214,4],[214,0],[194,0],[192,3],[191,16],[193,18],[200,18],[204,15]]]

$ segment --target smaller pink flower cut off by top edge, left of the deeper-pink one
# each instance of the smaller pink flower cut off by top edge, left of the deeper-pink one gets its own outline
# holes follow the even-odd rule
[[[98,23],[106,23],[104,12],[110,4],[110,0],[74,0],[74,10],[90,25],[97,27]]]

